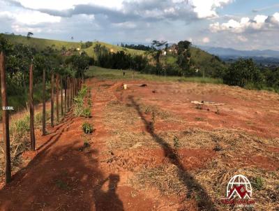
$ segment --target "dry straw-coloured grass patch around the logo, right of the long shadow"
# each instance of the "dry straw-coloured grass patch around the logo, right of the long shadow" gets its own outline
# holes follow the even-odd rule
[[[230,178],[236,174],[245,175],[252,185],[252,198],[255,200],[255,210],[276,210],[279,200],[279,171],[261,170],[255,167],[241,168],[230,165],[221,158],[215,159],[209,165],[195,173],[195,179],[202,184],[219,210],[235,210],[220,203],[220,198],[226,196],[226,187]]]

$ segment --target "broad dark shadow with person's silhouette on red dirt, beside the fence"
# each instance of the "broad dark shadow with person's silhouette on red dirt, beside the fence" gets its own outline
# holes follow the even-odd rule
[[[47,135],[47,145],[0,190],[0,210],[123,210],[116,194],[119,175],[105,179],[98,151],[87,147],[81,152],[82,138],[73,138],[78,137],[75,129],[64,133],[66,128]],[[108,191],[100,185],[104,180]]]

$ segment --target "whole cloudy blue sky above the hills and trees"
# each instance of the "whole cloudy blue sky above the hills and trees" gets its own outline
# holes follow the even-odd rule
[[[275,0],[0,0],[0,32],[70,41],[279,50]]]

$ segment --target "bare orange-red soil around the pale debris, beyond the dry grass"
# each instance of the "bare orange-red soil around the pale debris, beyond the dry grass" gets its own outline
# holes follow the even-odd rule
[[[183,117],[186,123],[183,124],[184,128],[242,129],[266,138],[279,137],[278,94],[190,82],[127,83],[126,92],[117,92],[115,89],[121,86],[121,82],[114,85],[114,94],[119,101],[128,103],[128,96],[135,96],[144,104],[158,106]],[[142,83],[147,86],[140,87]],[[197,109],[191,101],[214,101],[225,103],[225,106],[202,106],[202,109]],[[162,128],[165,127],[167,126],[162,125]]]

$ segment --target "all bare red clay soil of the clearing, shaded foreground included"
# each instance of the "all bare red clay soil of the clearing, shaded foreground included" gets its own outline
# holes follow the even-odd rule
[[[180,203],[183,199],[178,196],[162,196],[156,189],[137,190],[128,184],[132,168],[156,167],[167,162],[163,150],[119,151],[115,153],[120,160],[103,162],[107,159],[102,153],[107,150],[105,141],[110,137],[110,129],[105,126],[104,108],[112,100],[128,102],[131,95],[186,119],[181,129],[225,127],[243,129],[259,136],[279,137],[279,108],[276,106],[279,97],[276,94],[247,92],[250,95],[246,96],[246,91],[241,93],[239,89],[220,89],[218,86],[209,89],[208,85],[199,87],[191,83],[144,82],[147,87],[140,87],[138,81],[128,82],[127,92],[117,92],[120,82],[105,83],[112,86],[101,86],[104,82],[97,80],[87,82],[93,87],[93,117],[86,120],[96,129],[93,135],[84,136],[81,126],[85,119],[73,117],[71,113],[54,129],[48,128],[47,136],[40,136],[36,131],[38,148],[36,152],[24,153],[26,166],[13,175],[13,182],[0,190],[0,210],[197,210],[193,199]],[[96,92],[98,87],[103,92]],[[271,98],[266,99],[267,96]],[[226,105],[218,107],[218,115],[215,107],[197,110],[190,103],[193,100]],[[196,117],[206,121],[197,121]],[[157,129],[165,130],[167,126],[160,125]],[[91,147],[83,149],[85,138],[91,140]],[[202,168],[215,156],[209,149],[181,149],[177,154],[186,170]]]

